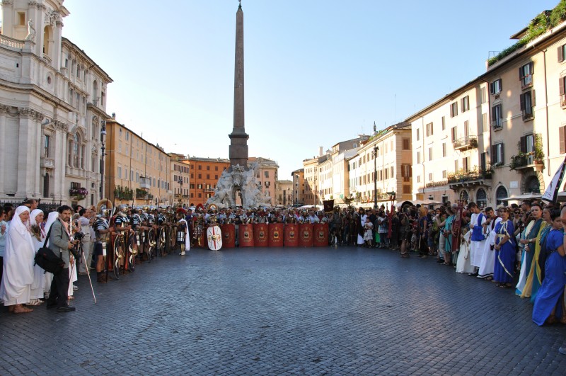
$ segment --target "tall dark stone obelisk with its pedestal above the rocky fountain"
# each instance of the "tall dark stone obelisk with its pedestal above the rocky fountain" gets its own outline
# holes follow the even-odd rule
[[[241,0],[236,12],[236,65],[234,72],[234,124],[230,137],[230,164],[248,167],[248,138],[243,112],[243,11]]]

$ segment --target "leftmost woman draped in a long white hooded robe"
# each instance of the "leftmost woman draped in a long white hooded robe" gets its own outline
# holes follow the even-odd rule
[[[31,284],[33,283],[33,241],[29,227],[30,210],[19,206],[16,209],[6,239],[4,252],[4,277],[0,284],[0,300],[9,312],[26,313],[33,309],[24,307],[30,302]]]

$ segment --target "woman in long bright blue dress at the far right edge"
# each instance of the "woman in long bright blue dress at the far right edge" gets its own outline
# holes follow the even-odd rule
[[[564,286],[566,285],[566,258],[564,253],[564,230],[560,220],[560,210],[552,210],[550,219],[553,221],[552,229],[546,238],[543,284],[538,289],[533,307],[533,321],[537,325],[545,322],[553,324],[556,316],[562,316],[562,323],[566,323],[564,315]],[[558,312],[556,312],[557,305]]]

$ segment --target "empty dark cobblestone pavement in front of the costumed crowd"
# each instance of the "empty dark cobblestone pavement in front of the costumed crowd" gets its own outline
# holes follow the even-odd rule
[[[76,312],[0,309],[0,375],[564,375],[566,326],[508,289],[386,250],[192,250]]]

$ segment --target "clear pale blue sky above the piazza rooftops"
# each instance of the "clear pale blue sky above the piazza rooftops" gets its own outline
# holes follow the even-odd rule
[[[243,0],[250,156],[303,159],[485,72],[558,0]],[[228,157],[236,0],[66,0],[63,35],[114,83],[108,113],[166,152]]]

